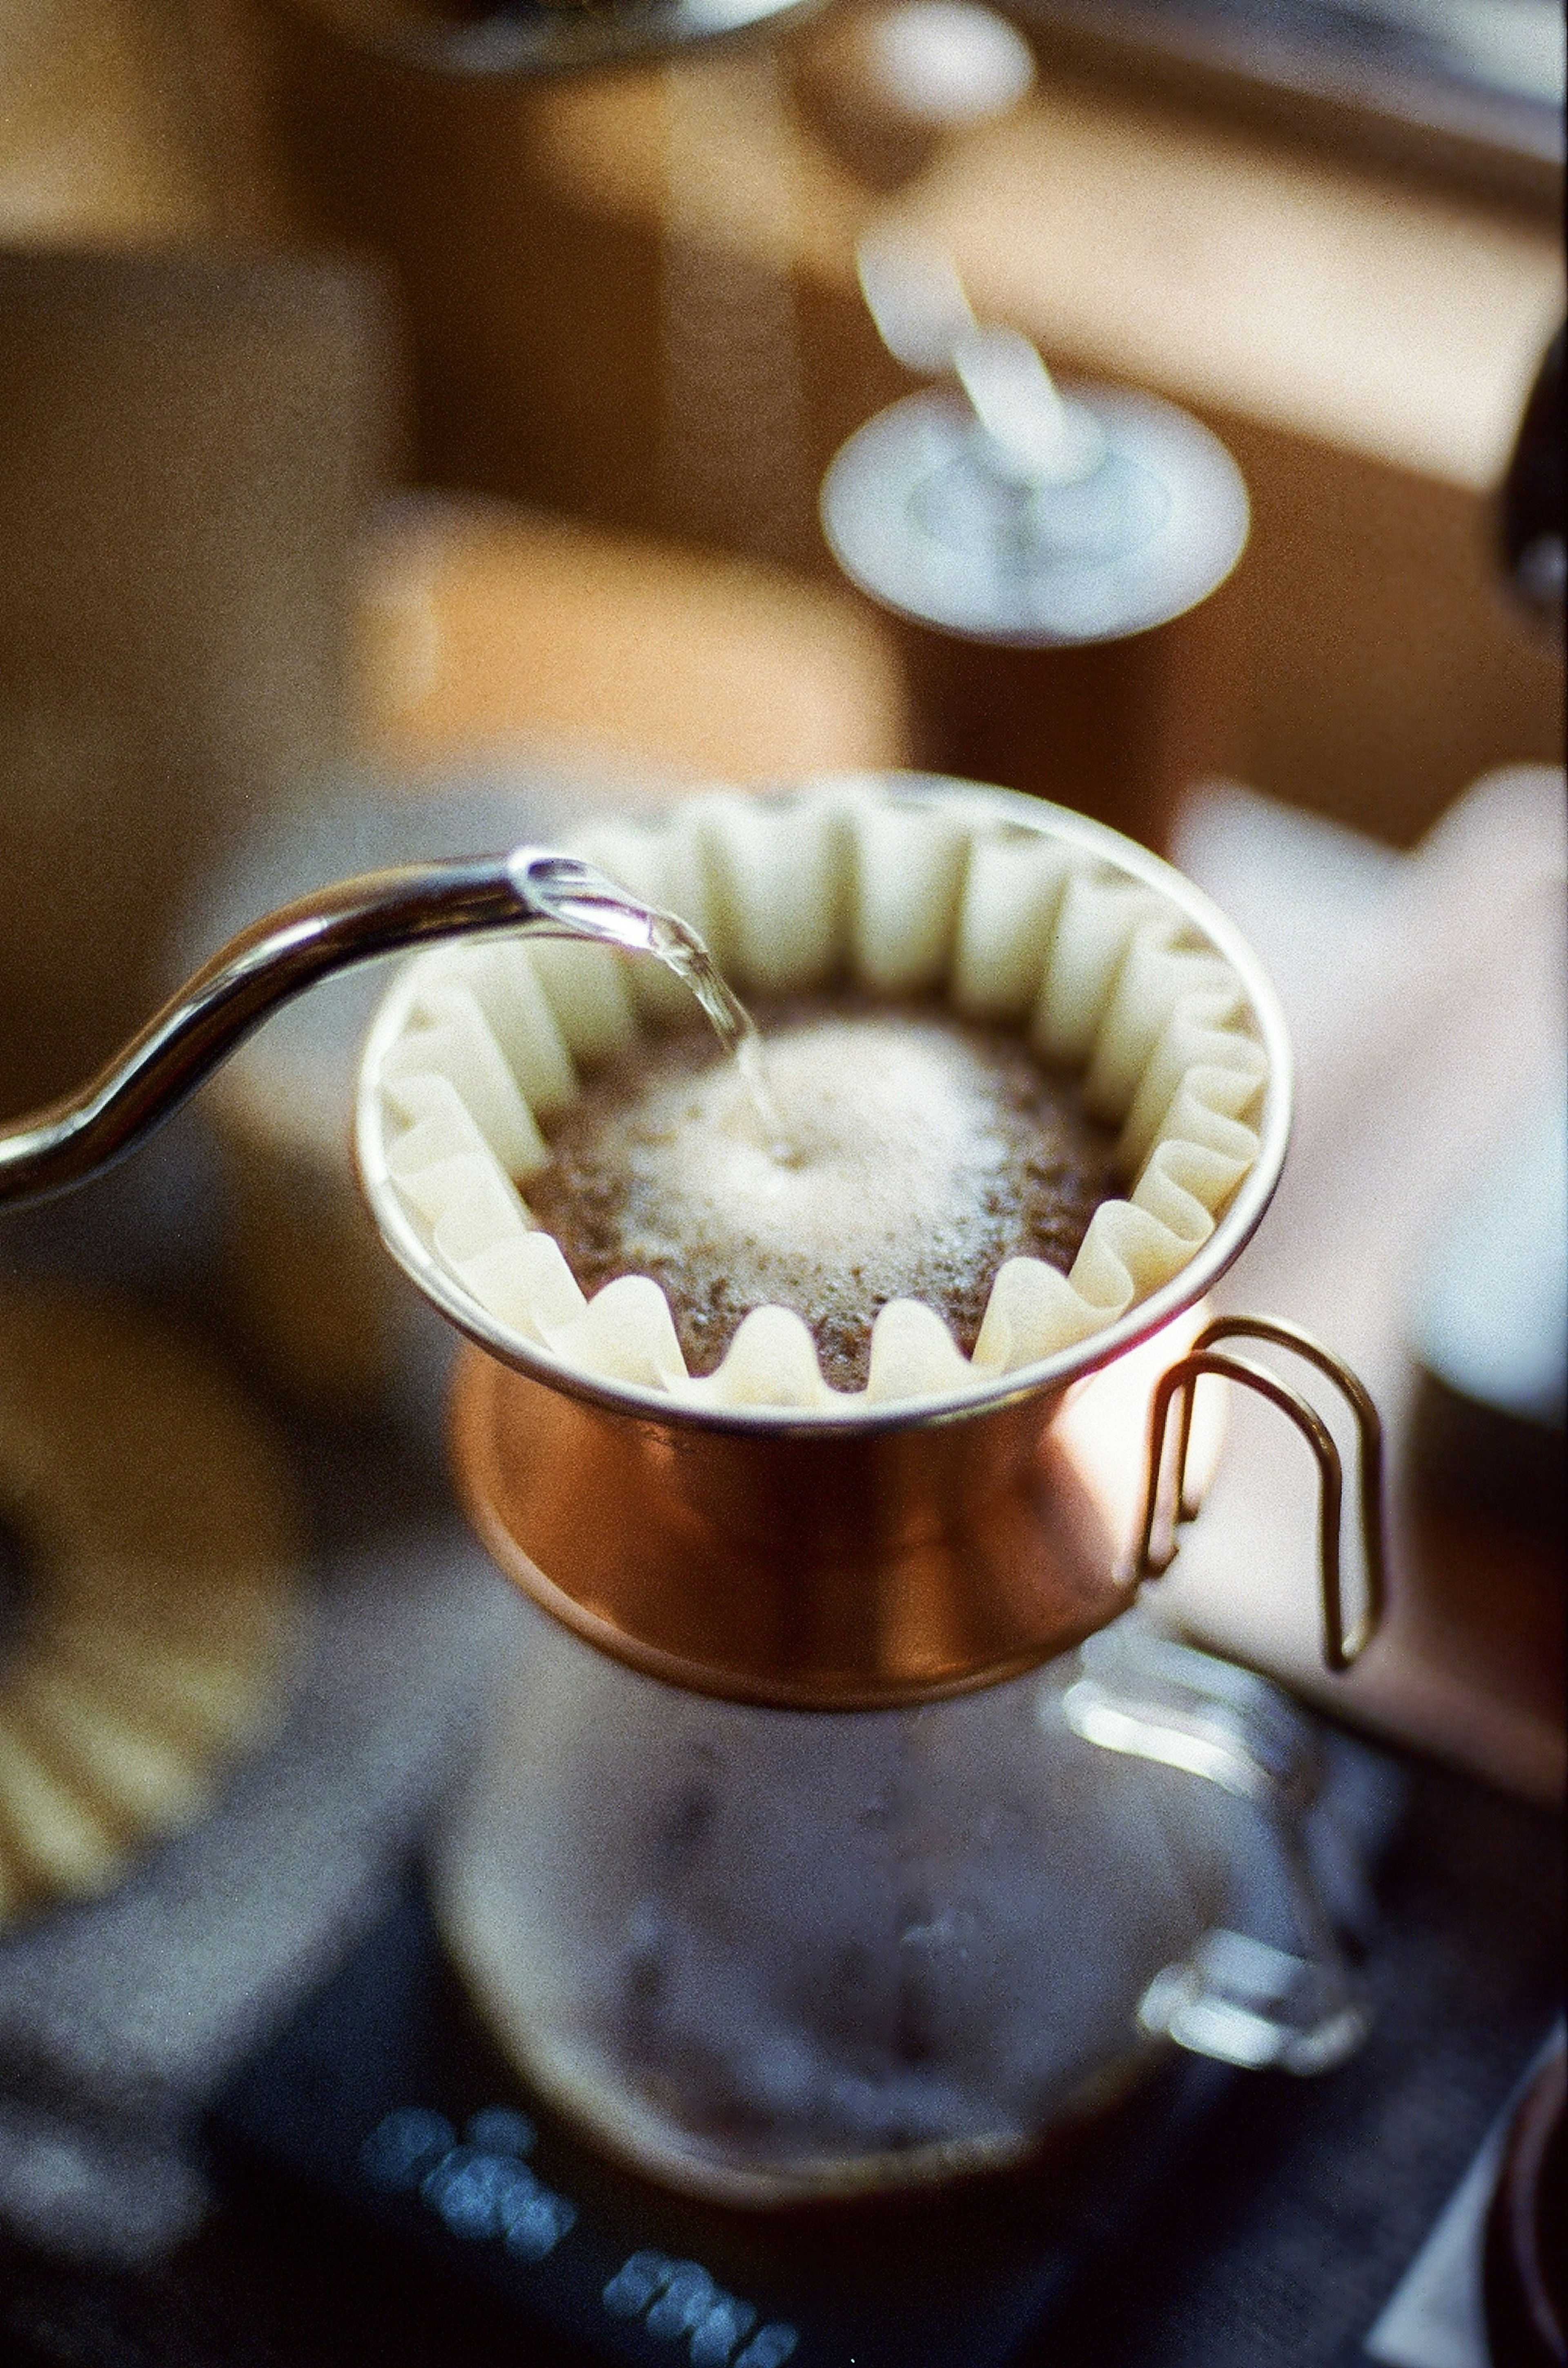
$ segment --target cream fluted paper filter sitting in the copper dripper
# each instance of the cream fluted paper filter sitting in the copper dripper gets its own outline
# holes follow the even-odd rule
[[[577,1373],[714,1407],[849,1411],[979,1390],[1168,1283],[1258,1156],[1268,1061],[1235,969],[1159,890],[1048,826],[840,779],[601,822],[575,852],[700,931],[743,997],[844,976],[887,997],[946,985],[965,1018],[1017,1025],[1083,1077],[1090,1115],[1119,1127],[1128,1179],[1069,1274],[1003,1262],[972,1359],[932,1307],[892,1300],[866,1390],[837,1392],[802,1317],[757,1307],[724,1364],[693,1376],[660,1286],[627,1274],[587,1300],[525,1201],[551,1156],[539,1120],[575,1096],[579,1063],[646,1023],[695,1018],[688,990],[591,945],[438,947],[404,969],[376,1030],[367,1082],[388,1175],[487,1328]]]

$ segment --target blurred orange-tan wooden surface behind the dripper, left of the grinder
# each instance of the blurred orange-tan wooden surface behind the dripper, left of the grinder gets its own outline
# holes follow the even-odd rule
[[[892,630],[832,583],[461,497],[388,504],[359,583],[393,765],[527,746],[657,793],[908,760]]]

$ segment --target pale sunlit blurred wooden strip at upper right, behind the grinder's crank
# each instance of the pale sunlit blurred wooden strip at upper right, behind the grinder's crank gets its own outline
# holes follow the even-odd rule
[[[918,213],[1062,360],[1469,493],[1561,315],[1551,220],[1067,83]]]

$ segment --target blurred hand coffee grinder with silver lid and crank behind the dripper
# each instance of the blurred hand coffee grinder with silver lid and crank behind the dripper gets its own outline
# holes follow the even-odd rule
[[[856,429],[821,493],[840,568],[896,618],[920,762],[1164,845],[1225,741],[1178,628],[1242,556],[1242,471],[1171,403],[1060,391],[934,242],[873,230],[858,272],[894,360],[951,381]]]

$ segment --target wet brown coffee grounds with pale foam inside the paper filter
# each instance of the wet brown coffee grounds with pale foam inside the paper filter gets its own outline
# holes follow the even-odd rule
[[[1067,1269],[1119,1189],[1112,1132],[1017,1035],[849,992],[759,1023],[773,1144],[736,1061],[691,1028],[589,1077],[527,1186],[589,1295],[622,1274],[665,1288],[693,1373],[764,1305],[804,1317],[837,1390],[866,1385],[894,1298],[934,1307],[967,1354],[1003,1260]]]

